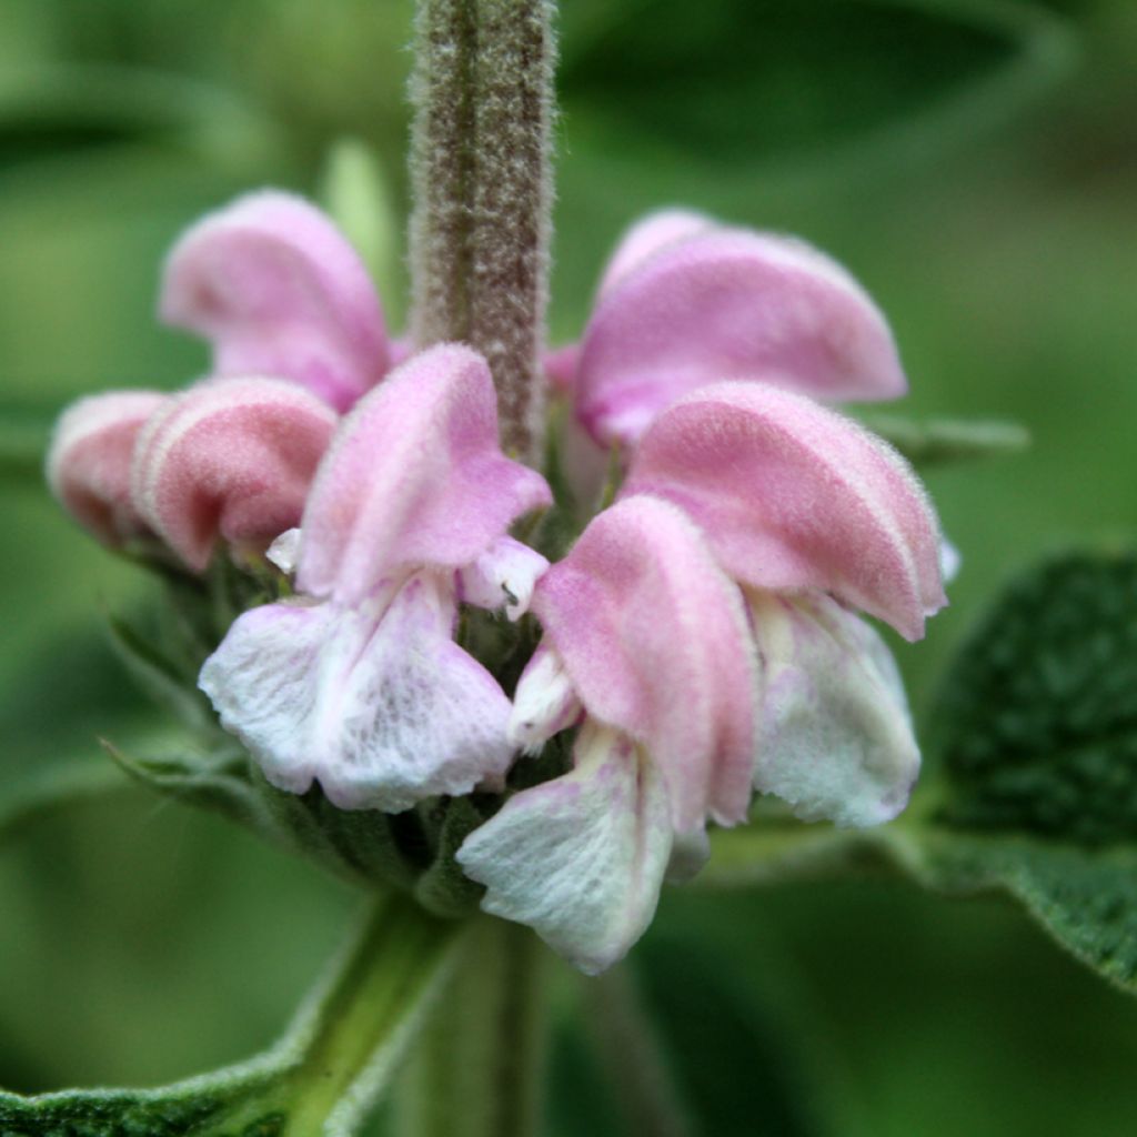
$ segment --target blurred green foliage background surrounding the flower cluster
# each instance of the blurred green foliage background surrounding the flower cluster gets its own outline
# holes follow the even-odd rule
[[[0,6],[0,803],[105,763],[98,735],[161,745],[101,631],[146,583],[48,498],[45,424],[90,391],[200,374],[205,350],[152,309],[164,250],[205,209],[267,183],[315,192],[354,135],[405,215],[410,8]],[[898,412],[1030,429],[1023,457],[928,476],[963,571],[899,652],[918,713],[1013,570],[1131,539],[1135,57],[1131,0],[563,5],[556,341],[620,230],[681,202],[844,260],[896,330]],[[396,325],[404,275],[381,272]],[[153,1084],[251,1053],[355,904],[132,789],[30,818],[0,837],[0,1085]],[[888,882],[672,890],[638,954],[715,1132],[1137,1131],[1137,1005],[999,902]],[[558,1135],[612,1126],[586,1044],[566,1019]]]

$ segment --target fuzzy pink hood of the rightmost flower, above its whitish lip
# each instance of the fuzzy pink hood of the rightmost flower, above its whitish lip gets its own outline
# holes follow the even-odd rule
[[[936,515],[911,467],[803,396],[696,391],[644,437],[623,492],[681,506],[741,583],[833,592],[908,639],[946,603]]]

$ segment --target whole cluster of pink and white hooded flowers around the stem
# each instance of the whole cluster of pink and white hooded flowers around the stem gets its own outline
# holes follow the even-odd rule
[[[511,536],[559,503],[501,453],[484,360],[391,340],[313,207],[264,192],[207,217],[161,314],[210,341],[209,376],[78,402],[49,480],[108,545],[294,581],[200,674],[273,786],[387,813],[500,794],[457,861],[488,912],[589,972],[754,791],[841,825],[904,807],[919,750],[857,613],[918,639],[944,604],[940,538],[905,462],[820,401],[905,387],[883,317],[822,254],[678,210],[626,234],[580,342],[546,360],[575,497],[613,448],[621,465],[553,565]],[[539,625],[512,698],[456,638],[471,608],[518,645]],[[506,789],[562,732],[571,769]]]

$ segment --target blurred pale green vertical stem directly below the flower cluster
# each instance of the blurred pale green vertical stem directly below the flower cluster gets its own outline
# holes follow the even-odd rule
[[[533,1137],[546,1065],[545,949],[479,919],[399,1098],[400,1137]]]

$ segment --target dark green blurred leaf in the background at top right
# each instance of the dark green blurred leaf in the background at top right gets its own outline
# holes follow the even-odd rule
[[[574,132],[733,172],[898,123],[919,121],[924,147],[989,126],[1070,58],[1055,17],[997,0],[568,5],[565,40]]]

